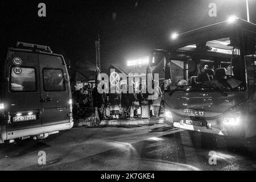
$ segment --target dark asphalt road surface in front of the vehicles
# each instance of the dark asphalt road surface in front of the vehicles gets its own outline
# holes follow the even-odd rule
[[[1,144],[0,169],[255,170],[256,137],[228,139],[166,124],[75,127],[42,140]]]

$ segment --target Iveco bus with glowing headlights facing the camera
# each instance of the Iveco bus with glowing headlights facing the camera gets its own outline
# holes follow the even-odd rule
[[[236,19],[172,36],[165,50],[155,50],[151,66],[164,59],[165,79],[171,81],[164,96],[167,123],[255,135],[255,43],[256,24]]]

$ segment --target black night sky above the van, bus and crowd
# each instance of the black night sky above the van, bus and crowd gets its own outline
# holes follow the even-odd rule
[[[38,3],[46,3],[46,17]],[[208,5],[217,4],[210,18]],[[249,0],[250,19],[256,23],[256,1]],[[100,34],[101,67],[126,65],[127,59],[164,48],[171,32],[185,32],[226,20],[246,19],[245,0],[147,1],[3,1],[0,2],[1,56],[16,41],[50,46],[73,68],[95,69],[94,41]]]

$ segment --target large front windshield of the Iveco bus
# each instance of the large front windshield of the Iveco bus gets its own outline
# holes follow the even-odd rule
[[[171,90],[245,90],[245,65],[238,39],[221,38],[170,52]]]

